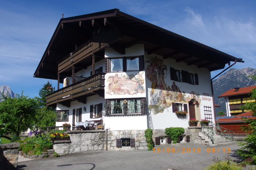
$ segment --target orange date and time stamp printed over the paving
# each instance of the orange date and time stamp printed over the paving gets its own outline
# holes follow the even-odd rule
[[[167,148],[165,150],[165,148],[163,148],[163,150],[161,151],[160,148],[153,148],[153,152],[154,153],[163,153],[164,151],[166,151],[167,153],[178,153],[178,152],[181,152],[181,153],[190,153],[190,152],[193,152],[193,153],[200,153],[201,152],[201,149],[200,148],[178,148],[178,149],[175,149],[175,148]],[[215,152],[227,152],[227,153],[230,153],[230,148],[223,148],[223,149],[215,149],[215,148],[207,148],[206,149],[206,152],[207,153],[215,153]]]

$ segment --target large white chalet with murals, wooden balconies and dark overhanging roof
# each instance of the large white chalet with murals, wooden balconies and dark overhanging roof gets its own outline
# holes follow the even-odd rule
[[[129,130],[118,135],[123,140],[131,130],[214,121],[211,71],[235,60],[244,62],[111,9],[61,19],[34,77],[58,80],[46,97],[56,126],[103,119],[111,131]]]

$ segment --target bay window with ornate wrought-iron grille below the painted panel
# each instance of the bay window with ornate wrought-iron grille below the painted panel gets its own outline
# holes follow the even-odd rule
[[[144,114],[144,98],[143,99],[115,99],[107,100],[107,115],[143,115]]]

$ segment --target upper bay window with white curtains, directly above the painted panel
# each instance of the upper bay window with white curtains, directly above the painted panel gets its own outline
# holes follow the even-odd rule
[[[142,70],[142,58],[123,57],[110,59],[110,71],[139,71]]]

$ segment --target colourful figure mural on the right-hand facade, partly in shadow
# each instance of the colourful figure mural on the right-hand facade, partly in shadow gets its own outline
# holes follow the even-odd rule
[[[188,103],[191,99],[196,99],[200,103],[201,100],[197,99],[194,91],[191,91],[187,96],[186,92],[179,86],[182,83],[165,83],[167,66],[163,63],[163,59],[157,56],[147,58],[146,63],[149,64],[146,68],[146,77],[151,82],[149,108],[154,115],[165,109],[169,112],[168,108],[172,106],[172,103]]]

